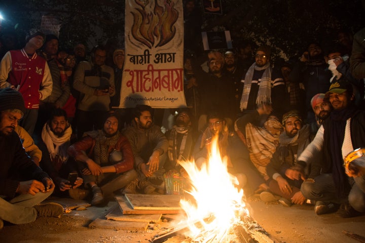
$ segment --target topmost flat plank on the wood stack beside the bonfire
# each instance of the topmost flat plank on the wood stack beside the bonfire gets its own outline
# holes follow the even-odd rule
[[[125,194],[136,210],[181,210],[179,195]]]

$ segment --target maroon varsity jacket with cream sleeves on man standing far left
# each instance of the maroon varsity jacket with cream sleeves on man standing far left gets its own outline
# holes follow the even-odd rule
[[[52,92],[52,76],[46,60],[24,49],[9,51],[0,63],[0,88],[12,87],[24,98],[25,108],[38,109]]]

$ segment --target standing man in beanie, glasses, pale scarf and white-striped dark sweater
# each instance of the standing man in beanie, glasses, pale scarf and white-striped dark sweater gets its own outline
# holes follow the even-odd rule
[[[281,73],[271,67],[270,56],[270,47],[261,46],[257,49],[255,62],[241,80],[243,83],[241,111],[255,110],[264,104],[272,104],[276,116],[281,117],[284,113],[282,104],[285,97],[285,83]]]

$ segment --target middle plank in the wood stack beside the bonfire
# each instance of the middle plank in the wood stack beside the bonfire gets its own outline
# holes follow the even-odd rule
[[[105,218],[108,220],[116,221],[133,221],[133,222],[154,222],[160,221],[162,214],[131,214],[123,215],[120,208],[117,206],[115,209],[108,213]]]

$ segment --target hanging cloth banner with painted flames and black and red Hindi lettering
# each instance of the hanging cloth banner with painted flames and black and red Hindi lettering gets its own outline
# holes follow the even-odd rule
[[[181,0],[126,0],[121,108],[186,106]]]

